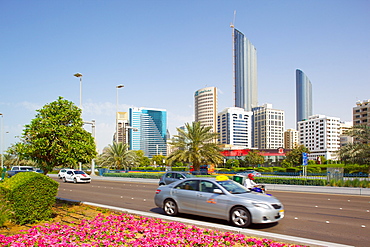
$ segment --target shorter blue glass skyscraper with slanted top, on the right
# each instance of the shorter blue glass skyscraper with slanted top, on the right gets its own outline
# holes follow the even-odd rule
[[[312,116],[312,84],[302,70],[296,70],[297,124]]]

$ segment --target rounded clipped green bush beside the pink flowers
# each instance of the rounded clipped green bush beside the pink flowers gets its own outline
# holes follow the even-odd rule
[[[0,183],[0,194],[12,212],[10,220],[24,225],[49,219],[58,186],[53,179],[36,172],[21,172]]]

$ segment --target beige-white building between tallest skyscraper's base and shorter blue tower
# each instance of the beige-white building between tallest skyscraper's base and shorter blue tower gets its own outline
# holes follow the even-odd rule
[[[253,108],[253,148],[278,149],[284,146],[285,113],[271,104]]]

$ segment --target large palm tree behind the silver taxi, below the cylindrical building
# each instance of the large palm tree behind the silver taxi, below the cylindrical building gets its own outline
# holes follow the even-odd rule
[[[223,161],[222,150],[215,142],[218,133],[211,132],[211,127],[201,126],[200,122],[193,122],[192,125],[186,123],[185,128],[177,128],[179,134],[172,140],[172,145],[177,149],[168,156],[169,163],[193,163],[194,170],[199,171],[202,164]]]

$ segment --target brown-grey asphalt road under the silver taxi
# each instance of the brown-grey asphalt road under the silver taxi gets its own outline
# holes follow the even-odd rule
[[[94,180],[90,184],[60,182],[58,197],[164,214],[154,204],[157,184]],[[277,224],[251,229],[352,246],[370,246],[370,197],[269,191],[285,207]],[[228,224],[220,220],[182,215],[189,219]]]

